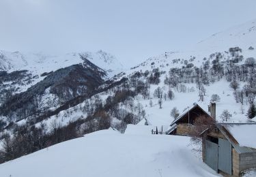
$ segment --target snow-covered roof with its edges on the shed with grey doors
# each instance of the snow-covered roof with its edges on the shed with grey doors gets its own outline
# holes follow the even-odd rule
[[[217,126],[238,152],[256,150],[256,123],[220,123]]]

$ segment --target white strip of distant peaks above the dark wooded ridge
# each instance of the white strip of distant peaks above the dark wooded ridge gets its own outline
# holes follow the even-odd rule
[[[60,55],[43,53],[7,52],[0,50],[0,70],[29,70],[35,74],[56,71],[57,69],[83,63],[87,59],[113,76],[124,66],[112,55],[102,50],[98,52],[73,52]]]

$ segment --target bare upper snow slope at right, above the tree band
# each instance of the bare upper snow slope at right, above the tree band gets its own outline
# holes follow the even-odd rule
[[[195,66],[201,66],[204,57],[209,57],[215,52],[225,52],[229,48],[239,46],[242,48],[244,58],[255,57],[256,50],[248,50],[250,46],[256,48],[256,19],[246,22],[236,27],[231,27],[225,31],[216,33],[207,39],[198,42],[190,48],[190,50],[178,50],[165,52],[155,57],[150,57],[147,61],[137,65],[136,67],[127,71],[130,74],[134,71],[152,69],[160,67],[162,70],[168,71],[170,67],[182,67],[181,62],[173,63],[173,60],[180,59],[191,60]],[[195,59],[193,59],[195,58]],[[154,65],[152,63],[154,62]],[[168,66],[167,66],[168,65]]]

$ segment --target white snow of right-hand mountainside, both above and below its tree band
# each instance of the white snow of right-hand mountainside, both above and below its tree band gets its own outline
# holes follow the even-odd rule
[[[231,27],[226,31],[216,33],[193,46],[190,51],[175,51],[175,52],[165,52],[165,54],[160,54],[156,57],[151,57],[147,61],[132,67],[132,69],[126,71],[125,76],[129,77],[132,74],[145,71],[152,71],[152,69],[159,69],[159,71],[165,72],[160,77],[160,84],[152,84],[150,87],[150,93],[153,95],[154,90],[160,86],[164,93],[167,91],[168,86],[163,83],[165,76],[169,74],[171,68],[182,68],[186,67],[184,61],[188,63],[193,63],[196,67],[201,67],[205,63],[204,58],[209,58],[211,54],[220,52],[223,54],[223,61],[226,59],[231,59],[232,56],[227,52],[229,48],[236,47],[242,48],[241,55],[244,60],[238,63],[238,65],[244,64],[245,59],[249,57],[256,58],[256,50],[249,50],[248,48],[252,46],[256,48],[256,19],[250,22],[246,22],[242,25],[236,27]],[[217,103],[216,118],[218,121],[222,122],[220,116],[223,110],[229,110],[232,114],[232,118],[228,120],[229,122],[247,122],[246,111],[248,110],[248,102],[243,106],[240,103],[236,103],[233,98],[233,89],[229,87],[227,80],[222,79],[219,82],[210,83],[210,85],[205,86],[206,95],[204,101],[199,101],[198,89],[196,84],[185,84],[188,88],[195,88],[195,91],[188,93],[178,93],[173,90],[175,98],[172,101],[163,101],[162,109],[159,109],[158,99],[154,99],[153,108],[150,108],[150,100],[139,99],[138,102],[143,104],[143,107],[147,113],[147,120],[150,125],[168,125],[173,121],[170,116],[170,111],[173,107],[177,107],[180,113],[188,108],[194,102],[199,103],[199,105],[204,109],[208,110],[208,104],[210,103],[211,95],[218,94],[221,97],[221,101]],[[240,82],[240,88],[244,86],[244,82]]]

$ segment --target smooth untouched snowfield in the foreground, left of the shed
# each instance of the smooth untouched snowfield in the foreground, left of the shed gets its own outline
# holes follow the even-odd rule
[[[0,165],[1,177],[218,176],[189,138],[96,131]]]

